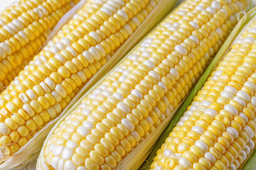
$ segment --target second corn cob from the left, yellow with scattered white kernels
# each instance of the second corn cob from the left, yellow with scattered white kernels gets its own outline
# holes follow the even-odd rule
[[[0,94],[1,161],[57,118],[160,0],[90,0]]]

